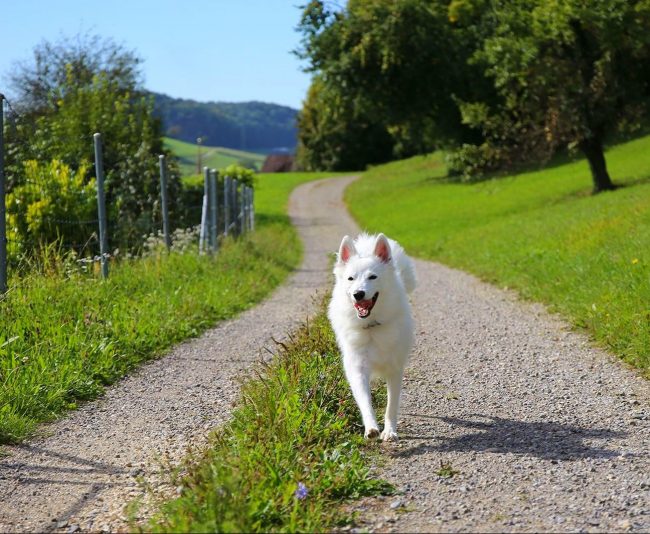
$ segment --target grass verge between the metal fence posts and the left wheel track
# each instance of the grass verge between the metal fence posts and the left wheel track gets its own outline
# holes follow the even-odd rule
[[[215,259],[194,252],[122,261],[108,280],[55,257],[0,300],[0,443],[101,394],[140,362],[259,302],[301,257],[289,193],[317,174],[262,175],[257,230]]]

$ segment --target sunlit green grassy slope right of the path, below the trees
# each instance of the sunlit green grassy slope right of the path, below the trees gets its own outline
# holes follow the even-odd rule
[[[378,166],[347,190],[369,231],[516,289],[650,367],[650,136],[607,151],[620,189],[590,194],[586,161],[449,183],[442,155]]]

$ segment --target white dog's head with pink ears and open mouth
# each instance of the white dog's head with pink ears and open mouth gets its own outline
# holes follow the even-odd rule
[[[382,278],[391,268],[390,244],[384,234],[377,236],[372,254],[367,256],[359,255],[349,236],[341,241],[334,269],[337,286],[345,290],[359,319],[370,317],[380,298]]]

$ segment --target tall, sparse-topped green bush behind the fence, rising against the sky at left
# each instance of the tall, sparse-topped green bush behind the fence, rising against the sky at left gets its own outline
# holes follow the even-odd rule
[[[137,247],[160,223],[158,155],[165,153],[160,124],[139,87],[139,60],[110,41],[98,50],[90,48],[93,44],[97,40],[46,42],[36,48],[33,68],[15,75],[14,83],[23,89],[41,78],[47,82],[38,99],[21,95],[21,113],[6,136],[9,186],[25,183],[23,163],[28,160],[46,164],[56,159],[73,171],[91,167],[93,134],[100,132],[109,246]],[[168,189],[170,198],[178,197],[180,179],[173,162]]]

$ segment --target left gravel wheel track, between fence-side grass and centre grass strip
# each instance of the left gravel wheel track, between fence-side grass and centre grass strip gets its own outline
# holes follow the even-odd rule
[[[274,346],[272,338],[282,338],[315,309],[317,294],[329,285],[328,254],[354,229],[341,202],[353,179],[310,182],[294,191],[289,212],[304,259],[266,301],[47,425],[47,437],[5,447],[0,531],[127,530],[124,505],[143,495],[139,480],[163,483],[161,465],[176,464],[188,446],[204,443],[208,431],[228,419],[237,377]]]

